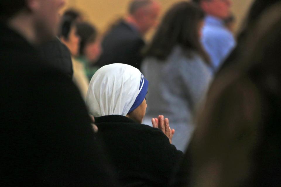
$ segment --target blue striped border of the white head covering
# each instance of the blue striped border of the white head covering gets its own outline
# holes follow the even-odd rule
[[[129,110],[128,114],[133,112],[133,110],[138,108],[138,106],[143,102],[143,100],[145,99],[147,90],[148,90],[148,80],[146,80],[145,77],[143,76],[143,74],[141,74],[139,93],[136,98],[136,101],[134,102],[133,106]]]

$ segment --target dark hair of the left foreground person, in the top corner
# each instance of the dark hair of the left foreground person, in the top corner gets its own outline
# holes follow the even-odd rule
[[[1,20],[7,20],[25,7],[25,0],[1,0],[0,18]]]

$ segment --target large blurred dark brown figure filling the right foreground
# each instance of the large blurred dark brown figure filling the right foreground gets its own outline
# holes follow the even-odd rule
[[[280,186],[280,11],[258,16],[248,53],[217,75],[174,186]]]

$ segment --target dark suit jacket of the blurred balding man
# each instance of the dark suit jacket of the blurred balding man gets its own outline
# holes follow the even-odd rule
[[[122,20],[104,36],[103,53],[95,66],[123,63],[140,69],[143,60],[141,50],[144,45],[138,31]]]

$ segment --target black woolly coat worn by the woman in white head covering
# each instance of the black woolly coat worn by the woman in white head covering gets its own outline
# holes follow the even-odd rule
[[[119,115],[95,118],[122,186],[167,186],[183,153],[159,129]]]

